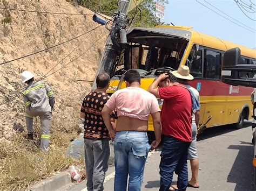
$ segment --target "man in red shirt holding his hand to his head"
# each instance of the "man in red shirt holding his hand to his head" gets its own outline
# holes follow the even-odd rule
[[[190,75],[187,77],[191,78]],[[160,155],[159,190],[169,190],[174,171],[178,175],[178,189],[186,190],[187,150],[191,143],[192,123],[190,91],[183,84],[178,83],[177,77],[170,72],[160,74],[148,91],[164,100],[161,109],[163,150]]]

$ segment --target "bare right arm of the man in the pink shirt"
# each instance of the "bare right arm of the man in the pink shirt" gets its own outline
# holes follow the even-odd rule
[[[154,150],[155,148],[158,147],[159,143],[161,142],[162,126],[161,126],[160,111],[154,112],[151,115],[152,115],[152,119],[153,119],[154,135],[156,137],[156,140],[154,140],[151,143],[151,149]]]

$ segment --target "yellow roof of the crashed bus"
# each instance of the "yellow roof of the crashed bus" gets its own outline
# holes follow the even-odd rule
[[[241,50],[241,55],[256,59],[256,50],[247,48],[245,46],[241,46],[238,44],[234,44],[229,41],[222,40],[220,38],[208,36],[206,34],[203,34],[197,31],[190,30],[192,29],[192,27],[190,26],[163,25],[163,26],[156,26],[156,28],[165,28],[165,30],[169,28],[169,29],[179,29],[179,30],[189,31],[191,32],[190,41],[192,41],[195,44],[199,44],[199,45],[214,48],[214,49],[219,49],[221,51],[227,51],[228,49],[239,47]],[[151,28],[151,29],[156,29],[156,28]]]

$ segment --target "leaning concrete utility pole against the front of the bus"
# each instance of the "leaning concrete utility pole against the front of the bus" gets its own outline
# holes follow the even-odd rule
[[[129,8],[129,4],[130,4],[130,0],[119,1],[116,15],[113,18],[113,25],[111,27],[111,31],[116,29],[116,27],[119,27],[122,29],[126,27],[126,24],[127,24],[126,15],[127,15],[127,10]],[[100,72],[106,72],[107,74],[111,75],[111,69],[116,59],[118,50],[113,45],[110,35],[111,34],[109,34],[109,37],[107,37],[106,46],[104,49],[104,53],[102,55],[102,59],[100,60],[96,76]],[[92,90],[95,90],[95,89],[96,89],[96,79],[94,80],[92,85]]]

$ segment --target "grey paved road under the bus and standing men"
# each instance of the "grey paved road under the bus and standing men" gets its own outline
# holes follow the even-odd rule
[[[253,190],[252,129],[233,130],[232,126],[211,128],[198,139],[200,188],[190,190]],[[146,163],[142,190],[159,189],[160,151],[151,152]],[[189,167],[190,168],[190,167]],[[110,167],[104,190],[113,190],[114,167]],[[177,181],[174,175],[173,184]],[[87,190],[85,182],[70,190]]]

